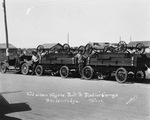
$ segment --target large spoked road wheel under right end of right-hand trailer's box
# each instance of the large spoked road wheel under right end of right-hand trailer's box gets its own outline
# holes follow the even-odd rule
[[[118,83],[124,83],[126,82],[128,77],[127,70],[125,68],[118,68],[115,73],[115,79]]]

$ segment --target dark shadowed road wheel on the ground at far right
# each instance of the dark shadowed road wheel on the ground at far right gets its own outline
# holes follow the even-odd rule
[[[135,79],[138,82],[143,82],[145,80],[145,77],[146,77],[145,71],[139,70],[135,72]]]

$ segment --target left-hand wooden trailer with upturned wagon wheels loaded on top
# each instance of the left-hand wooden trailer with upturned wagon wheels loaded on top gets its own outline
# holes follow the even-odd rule
[[[80,46],[79,50],[83,50],[84,47]],[[40,56],[39,63],[35,68],[35,73],[38,76],[44,74],[45,71],[50,71],[52,74],[60,74],[61,77],[67,78],[69,74],[79,74],[79,68],[75,54],[77,52],[71,52],[70,46],[64,44],[62,49],[56,49],[50,51],[49,49],[44,49],[43,46],[39,45],[37,47],[38,54]],[[44,55],[42,55],[45,53]]]

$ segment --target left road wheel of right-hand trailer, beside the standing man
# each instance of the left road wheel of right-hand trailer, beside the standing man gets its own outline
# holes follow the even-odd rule
[[[83,71],[82,71],[82,76],[87,79],[87,80],[90,80],[92,77],[93,77],[93,68],[91,66],[85,66],[83,68]]]

